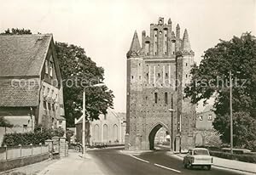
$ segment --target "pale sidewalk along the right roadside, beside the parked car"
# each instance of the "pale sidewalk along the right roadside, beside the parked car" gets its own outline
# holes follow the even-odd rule
[[[169,155],[173,155],[168,153]],[[179,158],[183,158],[183,154],[176,154]],[[238,170],[241,172],[251,172],[256,174],[256,164],[247,163],[243,161],[234,161],[229,159],[223,159],[219,157],[213,157],[213,167],[224,167],[231,170]]]

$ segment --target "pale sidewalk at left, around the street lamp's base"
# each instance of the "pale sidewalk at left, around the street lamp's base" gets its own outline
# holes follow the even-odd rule
[[[38,175],[103,175],[90,155],[81,157],[81,153],[69,152],[68,156],[61,158],[49,167],[44,168]]]

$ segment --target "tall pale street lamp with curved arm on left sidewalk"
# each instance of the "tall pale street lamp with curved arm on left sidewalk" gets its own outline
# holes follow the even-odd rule
[[[82,142],[83,142],[83,157],[85,157],[85,88],[89,87],[102,87],[104,86],[104,83],[98,83],[95,85],[87,86],[84,87],[84,92],[83,92],[83,129],[82,129]]]

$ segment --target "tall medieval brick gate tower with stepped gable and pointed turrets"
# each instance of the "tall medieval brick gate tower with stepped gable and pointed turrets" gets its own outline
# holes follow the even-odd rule
[[[160,127],[171,135],[171,150],[194,146],[195,105],[183,97],[194,55],[188,31],[181,38],[179,25],[172,31],[171,19],[151,24],[149,36],[143,31],[142,46],[135,31],[126,55],[126,150],[154,149]]]

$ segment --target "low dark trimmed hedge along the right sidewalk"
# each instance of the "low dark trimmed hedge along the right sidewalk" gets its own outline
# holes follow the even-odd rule
[[[224,159],[256,163],[256,155],[247,155],[247,154],[237,155],[237,154],[231,154],[231,153],[221,152],[221,151],[212,151],[212,150],[210,150],[210,155],[224,158]]]

